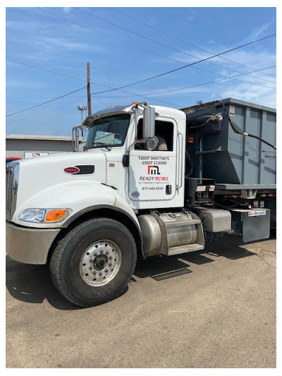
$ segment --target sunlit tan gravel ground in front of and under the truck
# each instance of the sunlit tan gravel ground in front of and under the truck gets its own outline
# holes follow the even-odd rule
[[[6,256],[6,368],[276,368],[276,237],[140,261],[84,309]]]

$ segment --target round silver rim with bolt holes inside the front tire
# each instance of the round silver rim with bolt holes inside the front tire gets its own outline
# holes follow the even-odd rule
[[[121,249],[116,243],[106,239],[97,241],[80,259],[80,276],[90,286],[104,286],[116,277],[121,260]]]

